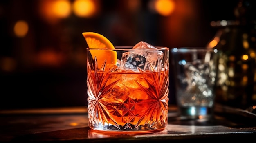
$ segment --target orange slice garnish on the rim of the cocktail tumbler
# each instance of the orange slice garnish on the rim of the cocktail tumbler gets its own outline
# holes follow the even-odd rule
[[[100,49],[115,49],[113,44],[103,35],[95,32],[83,32],[83,37],[86,40],[89,48],[99,49],[90,50],[92,58],[97,59],[98,68],[100,69],[106,60],[106,66],[114,66],[117,63],[117,52],[113,50],[100,50]]]

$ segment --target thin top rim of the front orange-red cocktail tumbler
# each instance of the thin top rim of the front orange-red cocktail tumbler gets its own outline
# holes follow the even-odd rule
[[[165,46],[154,46],[155,48],[132,48],[133,46],[115,46],[115,49],[108,48],[86,48],[87,50],[111,50],[111,51],[137,51],[137,50],[150,50],[150,51],[159,51],[159,50],[169,50]]]

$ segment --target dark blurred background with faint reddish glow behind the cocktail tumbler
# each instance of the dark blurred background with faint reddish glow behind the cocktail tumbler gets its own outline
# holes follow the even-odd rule
[[[74,0],[68,0],[70,3]],[[136,8],[129,1],[139,2]],[[115,46],[139,41],[154,46],[205,46],[218,29],[216,20],[233,20],[238,0],[172,0],[174,11],[160,15],[148,7],[153,0],[95,0],[90,18],[70,13],[45,19],[49,0],[0,1],[0,109],[86,106],[86,42],[82,32],[106,36]],[[16,21],[29,25],[27,35],[13,34]],[[170,104],[175,104],[170,66]]]

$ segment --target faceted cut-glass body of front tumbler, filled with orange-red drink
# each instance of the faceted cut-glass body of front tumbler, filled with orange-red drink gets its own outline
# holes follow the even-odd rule
[[[157,49],[155,49],[157,51]],[[117,54],[126,52],[116,50]],[[87,86],[89,126],[96,130],[150,131],[167,125],[169,93],[168,48],[158,58],[157,71],[122,71],[105,62],[98,69],[97,57],[88,50]],[[121,52],[121,53],[119,53]]]

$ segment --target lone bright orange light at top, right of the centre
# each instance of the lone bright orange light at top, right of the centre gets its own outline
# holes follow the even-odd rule
[[[175,8],[175,3],[173,0],[156,0],[155,1],[155,11],[163,16],[168,16],[173,13]]]

